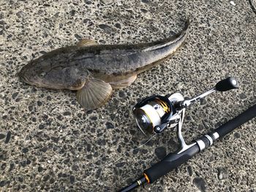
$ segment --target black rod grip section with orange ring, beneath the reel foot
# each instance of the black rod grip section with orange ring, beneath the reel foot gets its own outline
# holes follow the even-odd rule
[[[162,161],[159,161],[157,164],[154,164],[144,171],[148,183],[154,183],[154,181],[159,179],[159,177],[162,177],[171,170],[176,169],[177,166],[184,164],[184,162],[188,161],[199,151],[200,149],[198,145],[195,144],[182,153],[169,153],[165,158],[162,159]]]

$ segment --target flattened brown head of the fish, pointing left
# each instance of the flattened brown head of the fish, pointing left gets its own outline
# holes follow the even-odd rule
[[[41,57],[23,66],[18,73],[23,82],[42,88],[78,90],[89,77],[87,69]]]

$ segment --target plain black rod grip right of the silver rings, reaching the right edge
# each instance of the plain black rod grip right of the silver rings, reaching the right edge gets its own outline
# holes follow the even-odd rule
[[[223,124],[222,126],[219,126],[219,128],[215,129],[214,132],[217,132],[219,134],[219,137],[224,137],[226,134],[230,133],[238,126],[241,126],[242,124],[246,123],[246,121],[251,120],[255,117],[256,104],[250,107],[245,112],[242,112],[236,118],[233,118],[232,120],[227,121],[227,123]]]

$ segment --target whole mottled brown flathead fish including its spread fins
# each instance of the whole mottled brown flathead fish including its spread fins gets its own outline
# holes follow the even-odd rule
[[[110,99],[113,90],[126,88],[138,74],[170,58],[184,44],[188,29],[189,19],[175,35],[136,45],[99,45],[81,39],[29,61],[18,76],[40,88],[77,91],[79,104],[95,110]]]

